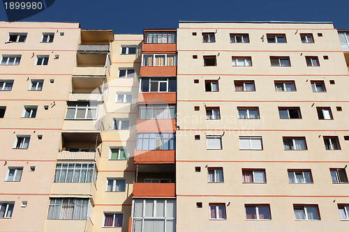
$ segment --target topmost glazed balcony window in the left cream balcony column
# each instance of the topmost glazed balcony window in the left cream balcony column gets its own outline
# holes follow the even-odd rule
[[[97,109],[97,105],[89,103],[68,103],[66,119],[96,119]]]

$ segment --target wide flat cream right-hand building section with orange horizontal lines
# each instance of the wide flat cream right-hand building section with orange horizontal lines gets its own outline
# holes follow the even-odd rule
[[[177,231],[347,231],[332,23],[179,22],[177,52]]]

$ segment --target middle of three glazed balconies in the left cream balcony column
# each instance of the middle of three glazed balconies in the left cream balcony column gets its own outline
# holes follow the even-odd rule
[[[57,164],[54,183],[91,183],[96,178],[94,164]]]

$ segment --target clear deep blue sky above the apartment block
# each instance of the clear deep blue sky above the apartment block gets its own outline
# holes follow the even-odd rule
[[[15,0],[14,0],[15,1]],[[80,22],[82,29],[177,28],[178,21],[330,21],[349,29],[349,0],[56,0],[37,15],[21,21]],[[0,20],[6,13],[0,6]]]

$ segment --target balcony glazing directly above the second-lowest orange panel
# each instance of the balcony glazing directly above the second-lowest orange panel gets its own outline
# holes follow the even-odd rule
[[[176,135],[170,133],[138,133],[137,150],[174,150]]]

